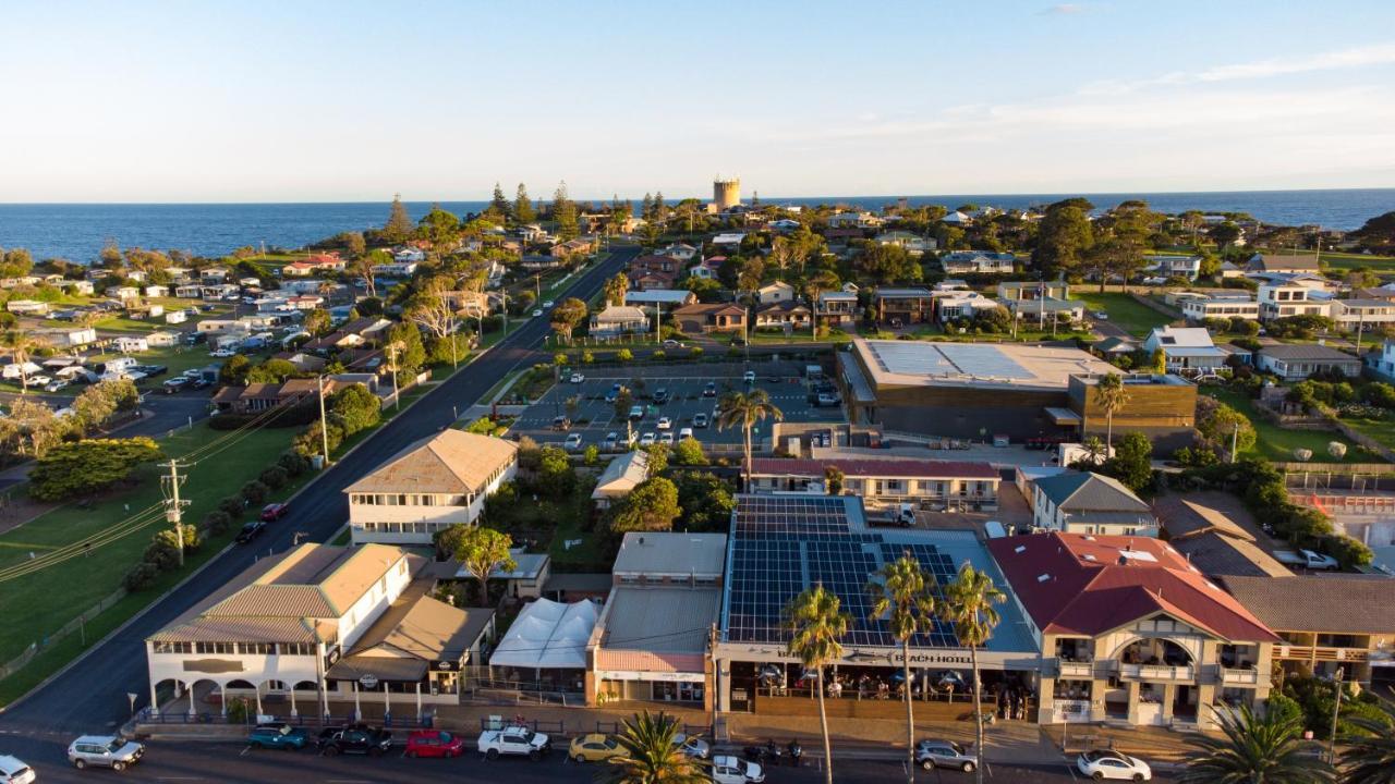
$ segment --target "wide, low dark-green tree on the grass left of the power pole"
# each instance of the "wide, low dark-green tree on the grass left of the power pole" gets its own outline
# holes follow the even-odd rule
[[[144,437],[60,444],[35,460],[29,472],[29,495],[39,501],[89,495],[124,481],[137,466],[159,458],[160,448]]]

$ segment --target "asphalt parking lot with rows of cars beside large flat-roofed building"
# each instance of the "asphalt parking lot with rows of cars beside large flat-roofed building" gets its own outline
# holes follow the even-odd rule
[[[755,384],[746,384],[746,370],[756,374]],[[693,437],[707,445],[739,445],[739,430],[718,431],[716,421],[717,402],[732,391],[764,389],[770,400],[784,414],[788,423],[840,423],[844,421],[841,406],[819,407],[809,402],[813,385],[804,377],[805,365],[790,361],[721,363],[721,364],[646,364],[635,368],[575,368],[585,374],[580,384],[562,379],[537,402],[529,406],[513,424],[513,432],[529,435],[540,444],[561,442],[566,434],[582,437],[580,449],[596,444],[604,448],[605,435],[615,432],[624,444],[625,416],[615,416],[615,403],[605,398],[617,384],[632,391],[635,405],[642,406],[644,416],[633,420],[635,438],[644,434],[660,438],[672,432],[677,439],[685,427],[693,428]],[[636,384],[636,379],[639,382]],[[710,395],[704,395],[711,384]],[[656,398],[667,396],[665,402]],[[566,400],[576,398],[575,407]],[[707,416],[707,427],[695,427],[693,417]],[[564,434],[552,430],[555,417],[569,417],[571,430]],[[660,420],[668,419],[670,427],[660,428]],[[757,425],[763,434],[770,432],[770,421]]]

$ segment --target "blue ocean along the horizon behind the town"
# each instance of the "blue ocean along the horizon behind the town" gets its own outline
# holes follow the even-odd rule
[[[1249,212],[1267,223],[1309,225],[1350,230],[1368,218],[1395,209],[1395,188],[1307,191],[1215,191],[1159,194],[961,194],[904,197],[911,204],[961,204],[1020,209],[1084,195],[1098,208],[1144,199],[1159,212]],[[843,204],[876,209],[896,195],[763,198],[774,204]],[[636,199],[638,201],[638,199]],[[670,198],[672,204],[675,198]],[[428,201],[409,202],[413,218]],[[484,201],[444,201],[441,206],[465,215]],[[386,202],[343,204],[0,204],[0,248],[28,248],[35,258],[91,262],[109,240],[121,247],[183,250],[197,255],[225,255],[243,246],[297,248],[339,232],[382,226]]]

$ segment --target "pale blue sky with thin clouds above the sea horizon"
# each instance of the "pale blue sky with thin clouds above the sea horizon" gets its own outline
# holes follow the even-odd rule
[[[1395,3],[7,4],[0,202],[1395,186]]]

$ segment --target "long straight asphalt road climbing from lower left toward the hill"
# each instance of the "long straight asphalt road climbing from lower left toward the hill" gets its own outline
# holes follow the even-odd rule
[[[582,273],[557,299],[591,297],[607,278],[638,252],[638,248],[617,250],[604,264]],[[310,541],[326,541],[347,519],[345,487],[409,444],[448,427],[455,419],[455,409],[465,410],[515,367],[536,361],[534,350],[548,332],[545,317],[518,326],[469,370],[452,375],[331,466],[301,491],[292,513],[262,536],[255,551],[233,548],[213,559],[201,573],[153,604],[126,629],[88,651],[75,667],[0,713],[0,753],[20,753],[22,757],[31,742],[40,746],[35,751],[42,751],[54,737],[70,738],[81,732],[110,730],[126,721],[131,713],[127,693],[138,695],[137,707],[144,706],[149,695],[144,647],[146,636],[246,569],[257,555],[290,547],[297,532],[308,534]],[[187,492],[197,494],[198,488],[190,487]],[[52,753],[52,748],[49,752]]]

